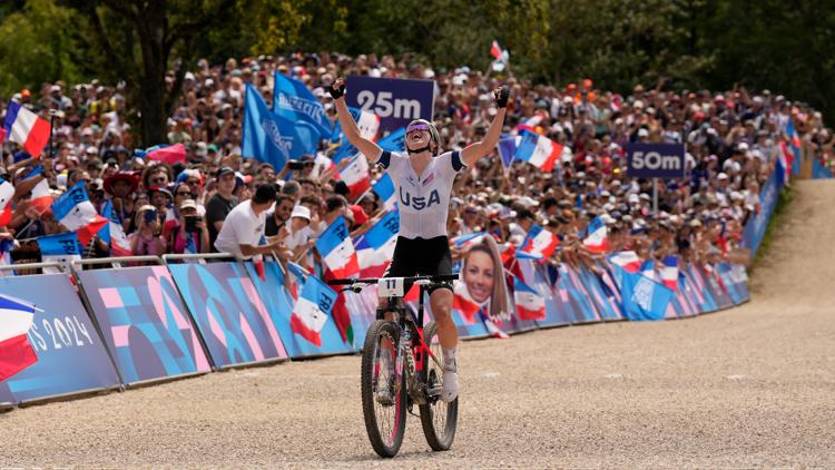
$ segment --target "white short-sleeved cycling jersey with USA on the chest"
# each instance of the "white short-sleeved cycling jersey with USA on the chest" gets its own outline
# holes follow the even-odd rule
[[[383,151],[376,161],[394,182],[400,209],[400,236],[434,238],[446,236],[446,216],[455,175],[465,165],[460,151],[432,157],[423,175],[418,175],[407,155]]]

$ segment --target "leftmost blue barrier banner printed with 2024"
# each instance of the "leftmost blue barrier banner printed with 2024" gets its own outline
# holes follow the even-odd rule
[[[0,382],[16,403],[119,386],[105,343],[65,274],[0,278],[0,293],[31,300],[29,344],[38,362]],[[49,293],[49,295],[43,295]]]

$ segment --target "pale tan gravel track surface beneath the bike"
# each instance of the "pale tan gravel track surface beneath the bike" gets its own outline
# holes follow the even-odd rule
[[[358,356],[0,414],[0,467],[835,468],[835,182],[796,197],[753,301],[466,342],[459,434],[371,449]]]

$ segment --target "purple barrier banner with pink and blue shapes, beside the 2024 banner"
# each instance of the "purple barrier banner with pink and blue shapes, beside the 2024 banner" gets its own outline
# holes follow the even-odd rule
[[[165,266],[90,270],[79,278],[126,385],[210,372]]]

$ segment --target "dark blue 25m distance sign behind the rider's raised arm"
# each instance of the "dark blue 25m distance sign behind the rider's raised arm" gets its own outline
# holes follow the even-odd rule
[[[414,119],[432,121],[435,82],[352,75],[345,84],[350,107],[380,117],[380,128],[393,131]]]

